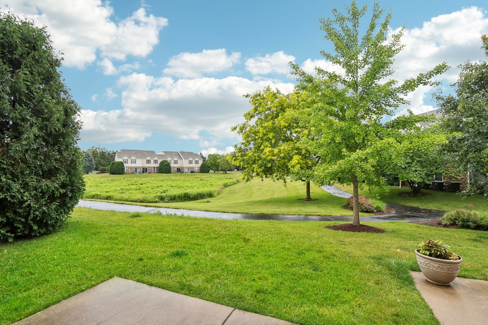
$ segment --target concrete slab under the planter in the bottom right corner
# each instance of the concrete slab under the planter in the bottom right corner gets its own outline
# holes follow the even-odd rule
[[[411,274],[441,324],[488,324],[488,281],[457,277],[445,287],[428,282],[422,272]]]

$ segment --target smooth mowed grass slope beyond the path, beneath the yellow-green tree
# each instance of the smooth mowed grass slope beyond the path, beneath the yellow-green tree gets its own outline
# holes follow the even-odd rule
[[[209,173],[208,175],[212,177],[214,174]],[[232,174],[232,177],[240,178],[241,174]],[[285,187],[282,182],[254,179],[247,183],[241,181],[234,186],[227,187],[213,198],[178,203],[137,204],[160,208],[235,213],[352,215],[352,211],[342,208],[346,205],[346,199],[334,196],[314,184],[310,185],[310,193],[312,198],[317,199],[316,201],[301,200],[306,196],[304,182],[288,182]],[[130,201],[118,203],[134,204]],[[368,214],[361,213],[361,215]]]

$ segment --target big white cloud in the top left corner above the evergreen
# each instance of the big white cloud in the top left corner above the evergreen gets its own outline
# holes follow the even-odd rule
[[[47,25],[55,49],[64,53],[63,64],[81,69],[96,60],[97,51],[119,60],[145,57],[168,24],[165,18],[147,15],[144,8],[116,23],[110,2],[101,0],[3,0],[0,7]]]

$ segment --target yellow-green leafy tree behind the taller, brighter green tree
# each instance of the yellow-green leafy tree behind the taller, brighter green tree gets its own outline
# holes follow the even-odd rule
[[[310,135],[310,130],[299,124],[304,94],[283,94],[267,87],[246,96],[252,108],[244,114],[244,123],[232,129],[243,138],[234,146],[232,162],[245,168],[245,181],[254,177],[284,184],[288,180],[303,181],[306,184],[304,200],[311,201],[311,170],[320,156],[300,146]]]

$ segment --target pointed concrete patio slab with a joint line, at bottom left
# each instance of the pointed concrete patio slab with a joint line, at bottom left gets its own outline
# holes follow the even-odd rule
[[[114,277],[16,325],[294,325]]]

